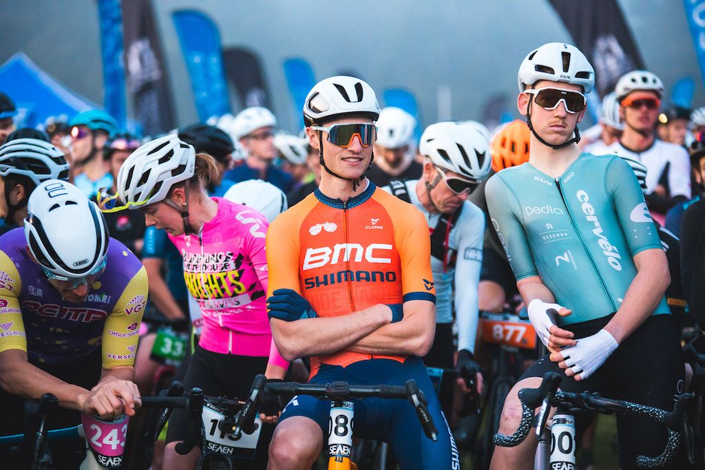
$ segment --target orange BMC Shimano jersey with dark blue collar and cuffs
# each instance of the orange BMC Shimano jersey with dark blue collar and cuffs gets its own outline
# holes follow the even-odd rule
[[[424,216],[372,182],[347,202],[319,190],[309,194],[269,225],[266,254],[267,296],[293,289],[319,316],[347,315],[375,304],[436,301]],[[311,376],[321,363],[345,367],[365,359],[372,356],[345,350],[312,357]]]

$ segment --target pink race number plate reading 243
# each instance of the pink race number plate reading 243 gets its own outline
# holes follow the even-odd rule
[[[128,416],[123,414],[113,421],[103,421],[81,413],[81,422],[96,461],[106,469],[119,469],[123,464]]]

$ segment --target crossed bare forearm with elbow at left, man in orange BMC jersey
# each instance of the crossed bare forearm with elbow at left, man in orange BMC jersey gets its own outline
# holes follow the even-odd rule
[[[289,322],[271,319],[269,324],[279,352],[284,359],[293,361],[348,349],[390,321],[389,307],[378,304],[343,316]]]

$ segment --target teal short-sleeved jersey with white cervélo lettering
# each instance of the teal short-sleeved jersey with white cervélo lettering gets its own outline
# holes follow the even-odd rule
[[[634,171],[618,157],[580,154],[560,178],[530,163],[486,185],[491,223],[517,280],[540,276],[572,309],[559,325],[617,311],[645,249],[663,249]],[[670,314],[661,299],[653,314]]]

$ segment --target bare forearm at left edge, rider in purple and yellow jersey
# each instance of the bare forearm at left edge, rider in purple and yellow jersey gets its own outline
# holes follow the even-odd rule
[[[59,406],[80,409],[79,397],[88,390],[66,383],[27,362],[27,354],[20,350],[0,353],[0,386],[8,393],[38,399],[51,393],[59,399]]]

